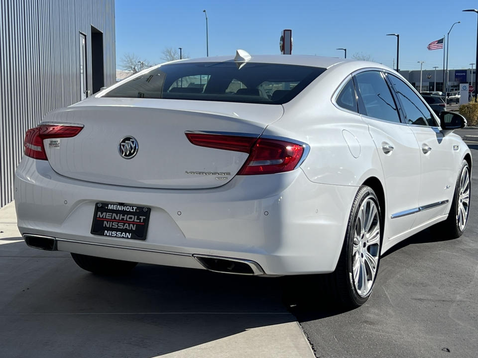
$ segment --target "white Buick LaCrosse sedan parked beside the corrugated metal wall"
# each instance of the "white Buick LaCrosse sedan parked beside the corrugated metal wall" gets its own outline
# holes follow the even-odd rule
[[[393,245],[465,230],[465,125],[376,63],[241,50],[170,62],[27,131],[18,228],[96,273],[310,274],[357,307]]]

